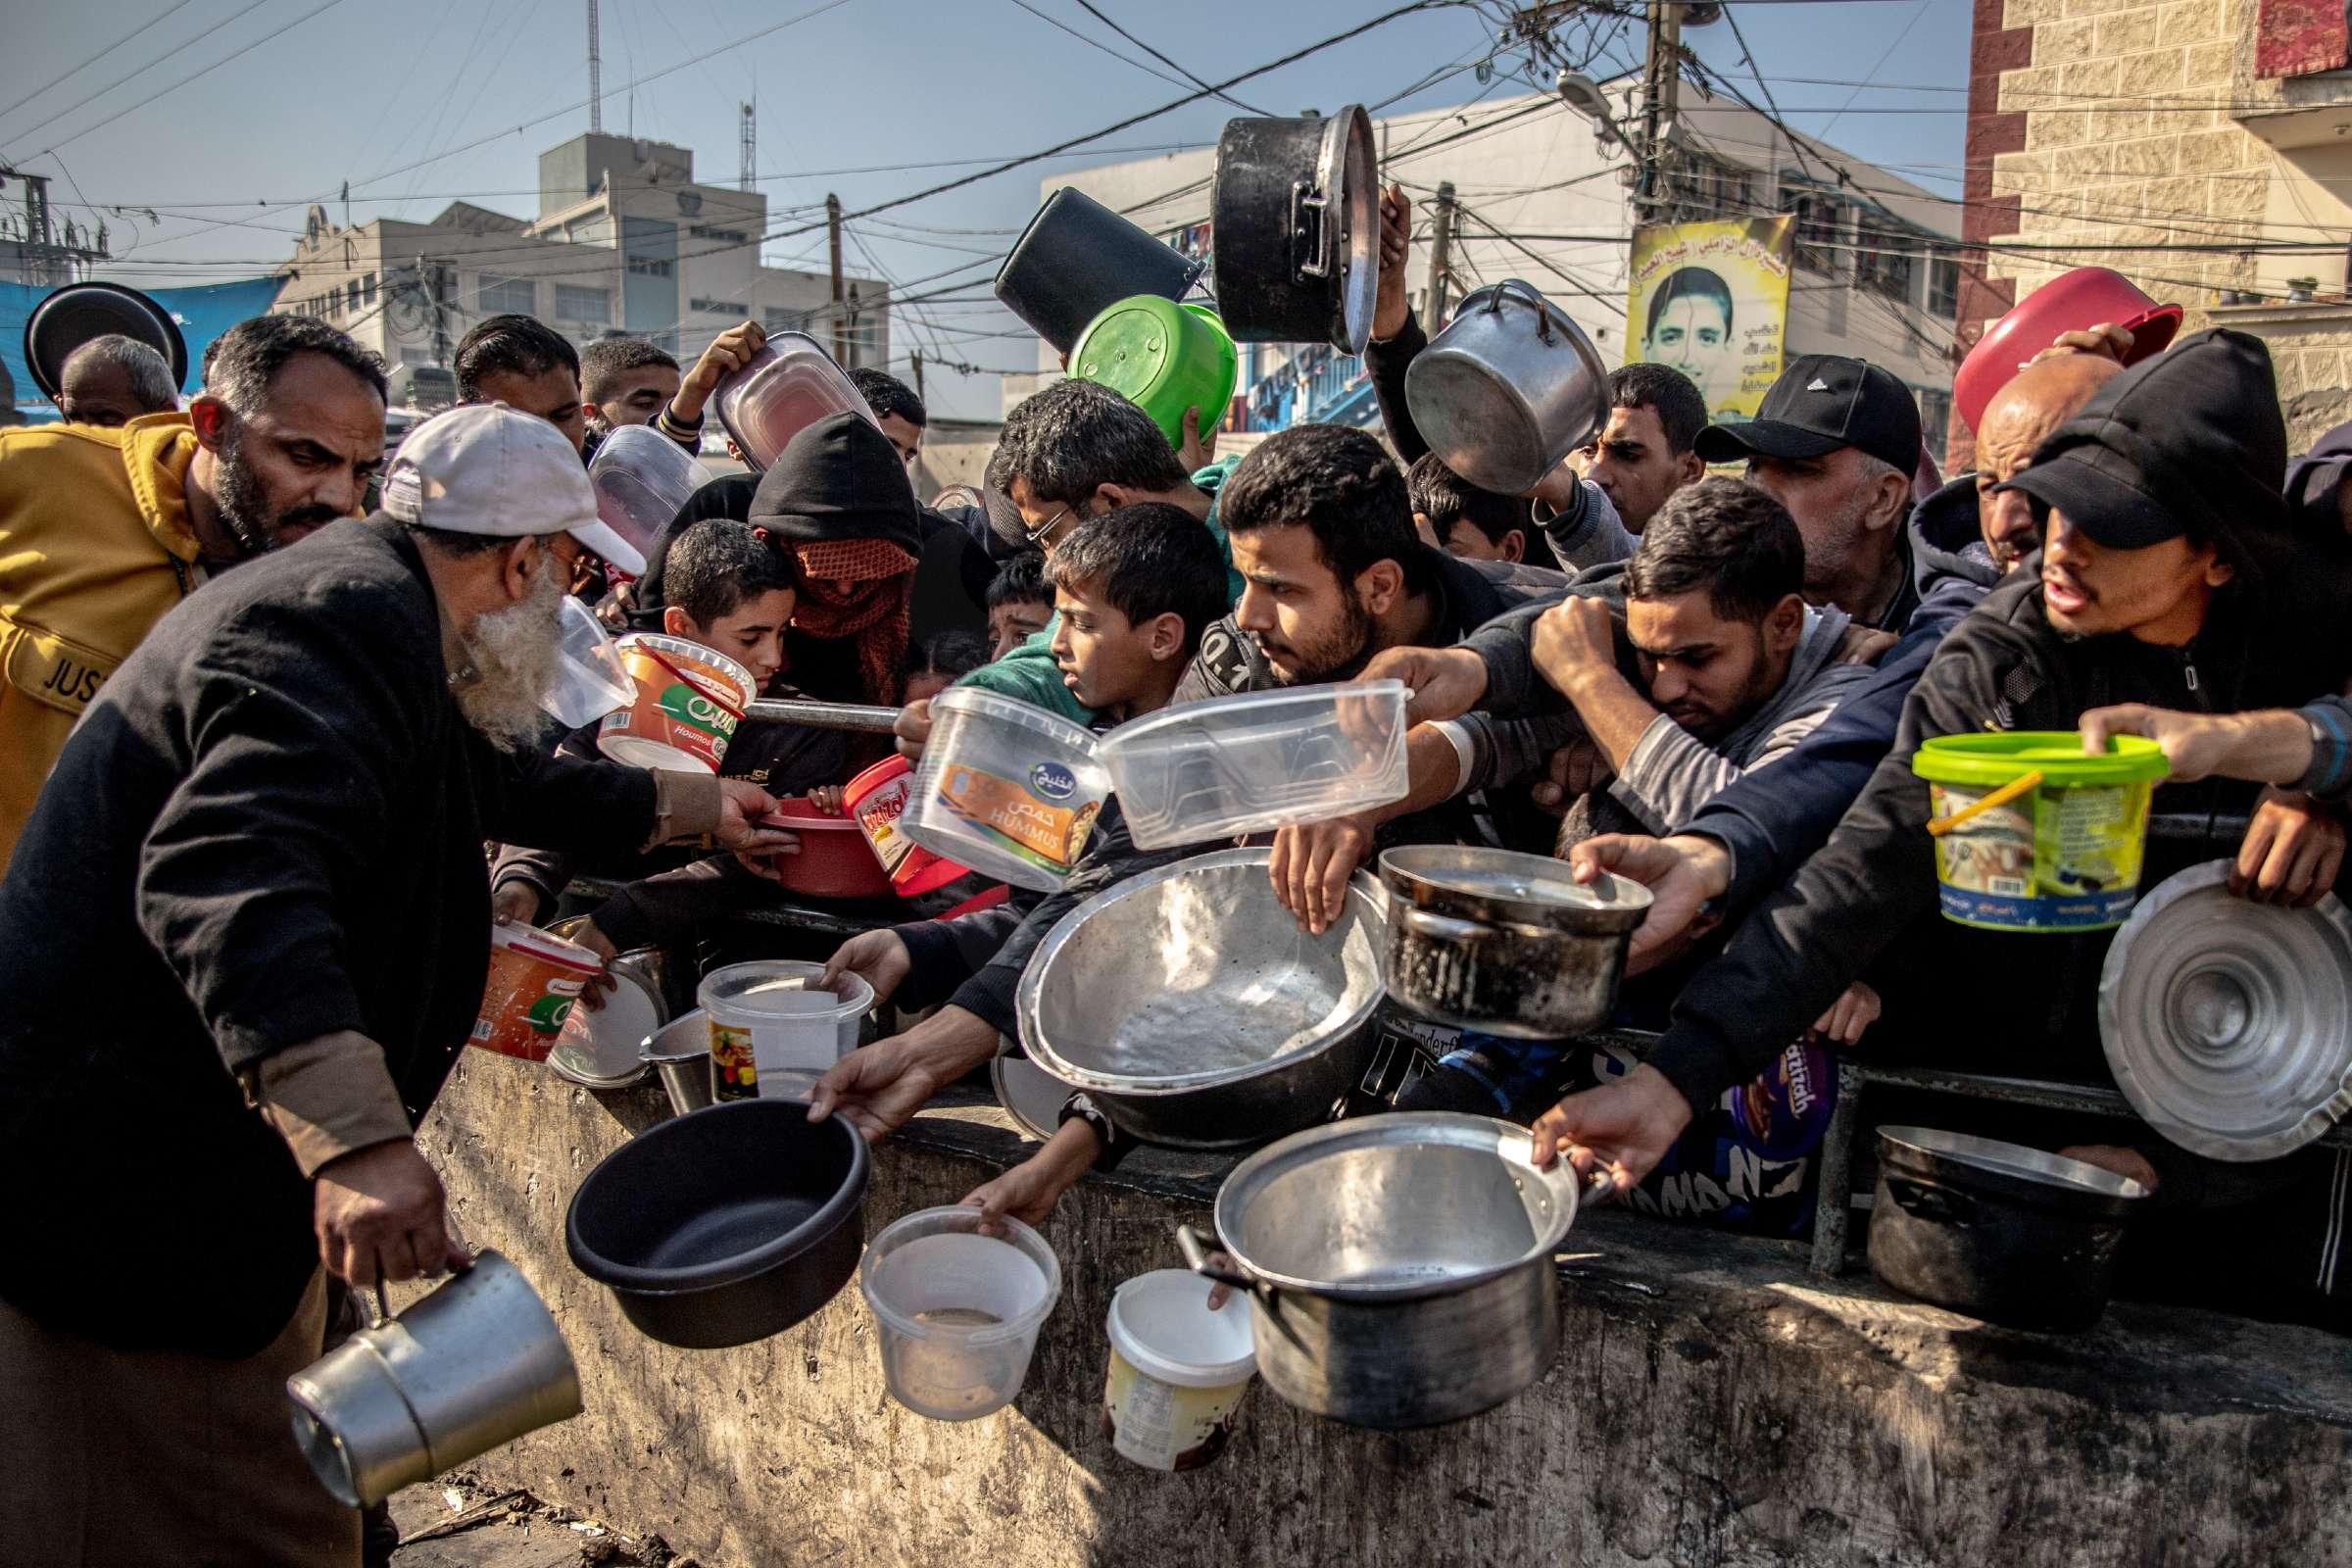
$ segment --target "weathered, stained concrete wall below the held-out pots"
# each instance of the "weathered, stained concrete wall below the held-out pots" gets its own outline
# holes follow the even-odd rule
[[[877,1150],[868,1234],[953,1204],[1025,1143],[964,1095]],[[564,1206],[666,1114],[468,1051],[426,1147],[477,1246],[553,1307],[588,1410],[473,1469],[715,1568],[781,1563],[2352,1566],[2352,1354],[2338,1338],[2114,1307],[2044,1338],[1813,1281],[1788,1244],[1597,1213],[1562,1354],[1489,1415],[1378,1434],[1258,1387],[1211,1467],[1101,1434],[1103,1314],[1174,1267],[1230,1161],[1145,1150],[1047,1234],[1063,1298],[1028,1389],[983,1420],[889,1403],[856,1286],[729,1352],[640,1338],[572,1269]]]

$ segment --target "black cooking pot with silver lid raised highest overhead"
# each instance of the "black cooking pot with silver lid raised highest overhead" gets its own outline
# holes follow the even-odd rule
[[[1359,355],[1381,284],[1371,118],[1228,120],[1209,195],[1216,310],[1237,343]]]

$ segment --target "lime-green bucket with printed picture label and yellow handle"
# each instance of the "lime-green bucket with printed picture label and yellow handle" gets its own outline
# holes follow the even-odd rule
[[[1987,931],[2105,931],[2140,896],[2147,802],[2171,769],[2164,750],[2117,736],[2084,755],[2074,731],[1938,736],[1912,755],[1933,818],[1957,816],[2016,783],[2042,783],[1936,839],[1945,919]]]

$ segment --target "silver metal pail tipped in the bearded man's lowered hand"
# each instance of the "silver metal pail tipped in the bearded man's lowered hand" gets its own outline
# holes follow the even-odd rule
[[[294,1441],[346,1507],[581,1413],[572,1349],[532,1281],[477,1253],[400,1316],[383,1314],[287,1378]]]

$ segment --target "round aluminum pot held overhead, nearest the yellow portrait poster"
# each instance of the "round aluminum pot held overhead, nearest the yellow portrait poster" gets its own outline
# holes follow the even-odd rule
[[[1609,418],[1609,369],[1566,310],[1505,277],[1414,357],[1404,407],[1446,468],[1517,496]]]

